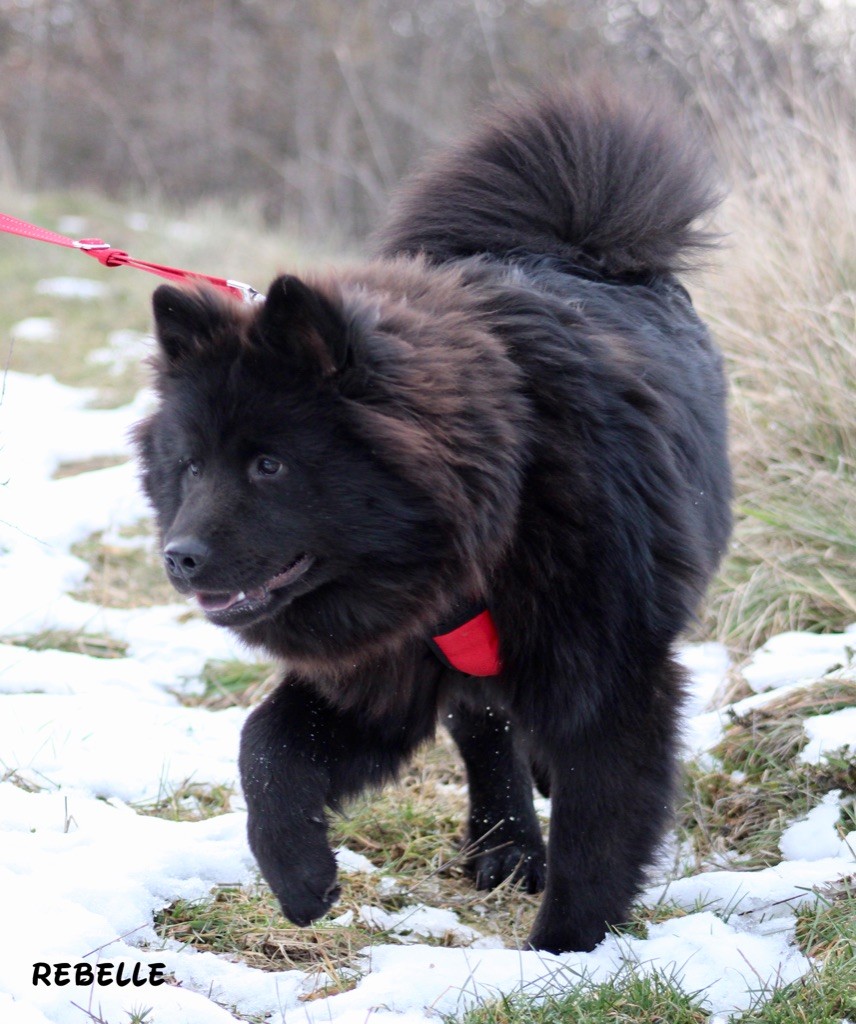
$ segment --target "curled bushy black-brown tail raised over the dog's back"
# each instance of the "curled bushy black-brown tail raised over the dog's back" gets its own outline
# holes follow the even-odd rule
[[[589,85],[489,114],[405,182],[378,243],[434,263],[522,251],[608,276],[668,272],[712,244],[696,222],[718,201],[673,111]]]

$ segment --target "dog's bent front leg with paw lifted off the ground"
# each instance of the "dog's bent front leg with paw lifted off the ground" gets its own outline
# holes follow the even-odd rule
[[[320,918],[339,895],[326,808],[394,775],[432,728],[433,715],[393,725],[290,678],[250,715],[240,758],[250,848],[294,924]]]

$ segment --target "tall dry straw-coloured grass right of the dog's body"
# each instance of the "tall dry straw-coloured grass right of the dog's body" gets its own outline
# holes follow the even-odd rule
[[[737,648],[856,622],[854,97],[718,124],[732,186],[698,301],[729,364],[736,528],[708,626]]]

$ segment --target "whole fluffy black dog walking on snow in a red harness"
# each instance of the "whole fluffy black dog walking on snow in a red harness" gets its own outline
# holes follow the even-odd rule
[[[715,201],[668,115],[556,91],[413,178],[366,265],[156,292],[143,481],[175,587],[286,663],[241,771],[291,921],[338,893],[326,808],[438,717],[476,885],[546,887],[531,945],[626,919],[730,526],[721,359],[675,278]]]

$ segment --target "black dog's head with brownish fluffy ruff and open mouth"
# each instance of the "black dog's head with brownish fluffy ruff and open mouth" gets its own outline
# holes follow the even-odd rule
[[[293,656],[430,623],[479,588],[502,532],[480,480],[497,489],[497,467],[471,464],[484,438],[443,373],[430,393],[430,339],[408,337],[424,315],[352,296],[293,276],[255,307],[155,293],[160,402],[136,441],[166,571],[211,622]]]

